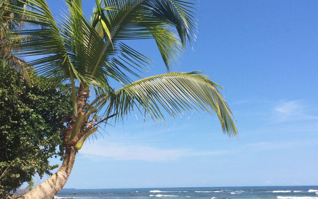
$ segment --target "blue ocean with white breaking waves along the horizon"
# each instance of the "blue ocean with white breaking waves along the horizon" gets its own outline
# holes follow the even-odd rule
[[[55,199],[318,199],[318,186],[63,189]]]

